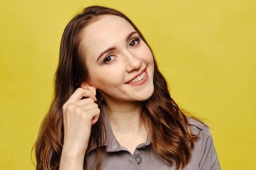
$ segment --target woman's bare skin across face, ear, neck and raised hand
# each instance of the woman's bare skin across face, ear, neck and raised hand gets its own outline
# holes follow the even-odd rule
[[[81,45],[89,80],[63,106],[60,170],[83,170],[91,127],[100,114],[94,103],[96,89],[105,99],[112,131],[121,145],[133,152],[148,135],[139,115],[141,102],[154,91],[154,62],[148,46],[126,20],[115,15],[102,15],[85,27]],[[141,74],[140,81],[129,83]]]

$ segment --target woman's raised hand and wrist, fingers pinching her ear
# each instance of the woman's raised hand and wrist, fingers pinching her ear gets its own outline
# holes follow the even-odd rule
[[[100,114],[95,95],[88,89],[78,88],[63,105],[64,142],[60,170],[83,169],[91,127]]]

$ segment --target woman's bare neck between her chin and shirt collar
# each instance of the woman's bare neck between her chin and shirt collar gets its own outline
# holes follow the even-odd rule
[[[141,120],[142,103],[106,104],[110,126],[117,141],[131,153],[146,142],[148,128]]]

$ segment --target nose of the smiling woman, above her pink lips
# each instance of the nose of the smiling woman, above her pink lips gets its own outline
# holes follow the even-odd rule
[[[127,52],[126,54],[126,71],[131,72],[133,70],[138,70],[141,67],[141,60],[136,54]]]

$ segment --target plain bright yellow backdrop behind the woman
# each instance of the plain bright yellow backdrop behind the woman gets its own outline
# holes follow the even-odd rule
[[[255,0],[1,0],[0,169],[35,169],[61,35],[94,4],[123,11],[144,33],[176,102],[210,120],[222,169],[256,170]]]

